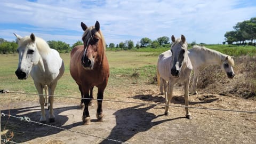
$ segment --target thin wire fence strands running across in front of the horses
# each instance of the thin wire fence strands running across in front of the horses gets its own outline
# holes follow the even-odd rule
[[[34,94],[34,93],[13,92],[13,91],[7,91],[7,90],[0,90],[0,93],[15,93],[15,94],[24,94],[24,95],[26,94],[26,95],[37,95],[38,96],[38,94]],[[42,94],[42,95],[44,95],[44,94]],[[98,101],[109,101],[109,102],[134,103],[134,104],[140,104],[140,105],[182,107],[182,108],[194,108],[194,109],[204,109],[204,110],[219,110],[219,111],[231,111],[231,112],[238,112],[238,113],[253,113],[253,114],[256,114],[256,111],[246,111],[246,110],[219,109],[219,108],[206,108],[206,107],[191,107],[191,106],[174,106],[174,105],[165,105],[165,104],[158,104],[158,103],[118,101],[118,100],[109,100],[109,99],[77,98],[77,97],[69,97],[69,96],[61,96],[61,95],[48,95],[48,96],[49,97],[61,97],[61,98],[80,99],[80,100],[81,99],[87,99],[87,100],[98,100]],[[91,137],[95,137],[95,138],[105,139],[105,140],[109,140],[109,141],[113,141],[113,142],[126,143],[126,142],[123,142],[123,141],[118,141],[118,140],[114,140],[114,139],[108,139],[108,138],[99,137],[97,135],[86,134],[86,133],[82,133],[82,132],[68,130],[68,129],[65,129],[63,127],[58,127],[58,126],[53,126],[53,125],[48,125],[48,124],[44,124],[44,123],[39,123],[39,122],[31,121],[30,118],[26,117],[26,116],[24,116],[24,117],[17,117],[17,116],[13,116],[13,115],[10,115],[10,114],[1,113],[1,117],[4,117],[4,116],[9,116],[9,118],[10,117],[18,118],[18,119],[20,119],[20,121],[25,121],[25,122],[29,122],[29,123],[36,123],[36,124],[40,124],[40,125],[45,125],[45,126],[53,127],[55,129],[60,129],[60,130],[74,132],[74,133],[79,133],[79,134],[82,134],[82,135],[87,135],[87,136],[91,136]],[[7,143],[7,142],[17,143],[17,142],[14,142],[14,141],[10,141],[9,139],[2,139],[2,138],[1,138],[1,141],[3,143]]]

